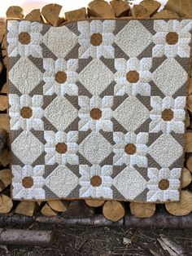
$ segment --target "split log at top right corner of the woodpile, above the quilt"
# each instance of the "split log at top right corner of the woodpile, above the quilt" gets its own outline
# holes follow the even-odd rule
[[[167,10],[174,11],[181,17],[192,17],[192,1],[191,0],[168,0],[164,7]]]

